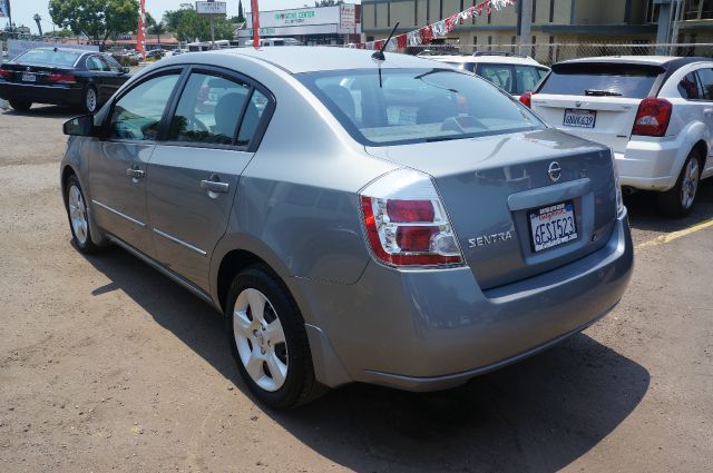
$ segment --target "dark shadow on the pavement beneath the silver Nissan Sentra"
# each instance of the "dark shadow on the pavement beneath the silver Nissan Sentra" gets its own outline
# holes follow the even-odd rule
[[[110,280],[92,294],[123,290],[251,396],[221,314],[124,250],[87,259]],[[450,391],[355,384],[293,411],[264,411],[320,455],[358,472],[548,472],[600,442],[648,385],[643,366],[579,334]]]

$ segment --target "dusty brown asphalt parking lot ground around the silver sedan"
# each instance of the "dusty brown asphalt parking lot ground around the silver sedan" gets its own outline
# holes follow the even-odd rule
[[[701,472],[713,464],[713,181],[627,198],[636,267],[580,335],[456,390],[256,405],[221,315],[70,244],[58,107],[0,112],[0,471]]]

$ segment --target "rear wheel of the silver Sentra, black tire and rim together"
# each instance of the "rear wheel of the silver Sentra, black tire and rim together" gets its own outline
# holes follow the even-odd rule
[[[273,408],[309,403],[326,388],[314,378],[304,319],[265,266],[241,272],[228,289],[226,332],[241,376]]]

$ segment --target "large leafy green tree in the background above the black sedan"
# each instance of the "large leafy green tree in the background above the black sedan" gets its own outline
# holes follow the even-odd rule
[[[109,36],[136,29],[138,9],[137,0],[49,0],[55,23],[102,46]]]

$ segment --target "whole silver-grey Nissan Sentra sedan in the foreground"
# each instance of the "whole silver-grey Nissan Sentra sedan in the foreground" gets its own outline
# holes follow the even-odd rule
[[[604,316],[632,272],[611,149],[426,59],[180,55],[65,132],[75,246],[223,312],[273,407],[466,383]]]

